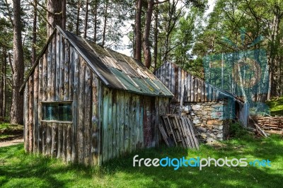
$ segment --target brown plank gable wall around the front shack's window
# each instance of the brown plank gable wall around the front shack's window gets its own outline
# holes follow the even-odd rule
[[[98,128],[91,122],[92,117],[98,117],[97,87],[98,78],[86,62],[59,32],[55,33],[25,86],[25,151],[67,162],[99,164],[99,136],[92,136],[98,134]],[[72,122],[42,120],[42,102],[64,101],[72,102]]]

